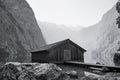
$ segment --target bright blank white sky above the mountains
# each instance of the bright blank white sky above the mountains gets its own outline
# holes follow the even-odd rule
[[[118,0],[27,0],[40,21],[65,25],[90,26]]]

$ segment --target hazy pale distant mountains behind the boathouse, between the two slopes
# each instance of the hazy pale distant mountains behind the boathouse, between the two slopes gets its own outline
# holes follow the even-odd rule
[[[66,38],[72,39],[74,34],[83,28],[82,26],[68,27],[65,25],[57,25],[55,23],[40,21],[38,21],[38,24],[48,44],[64,40]]]

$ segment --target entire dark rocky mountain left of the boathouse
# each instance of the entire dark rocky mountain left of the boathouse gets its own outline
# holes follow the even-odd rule
[[[0,0],[0,62],[30,61],[32,50],[45,45],[34,13],[25,0]]]

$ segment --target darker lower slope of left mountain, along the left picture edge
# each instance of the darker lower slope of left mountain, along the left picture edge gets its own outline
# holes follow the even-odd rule
[[[17,27],[14,18],[9,12],[0,6],[0,61],[25,61],[30,58],[17,35]],[[25,59],[26,58],[26,59]],[[28,60],[29,61],[29,60]]]

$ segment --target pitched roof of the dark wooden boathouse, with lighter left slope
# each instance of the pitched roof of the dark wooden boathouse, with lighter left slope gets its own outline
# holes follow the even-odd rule
[[[53,43],[53,44],[48,44],[48,45],[45,45],[45,46],[42,46],[42,47],[40,47],[40,49],[39,50],[37,50],[37,51],[32,51],[32,52],[39,52],[39,51],[49,51],[51,48],[53,48],[53,47],[56,47],[56,46],[58,46],[58,45],[60,45],[60,44],[62,44],[62,43],[64,43],[64,42],[66,42],[66,41],[71,41],[70,39],[65,39],[65,40],[62,40],[62,41],[59,41],[59,42],[55,42],[55,43]],[[72,42],[72,41],[71,41]],[[72,42],[73,43],[73,42]],[[75,43],[74,43],[75,44]],[[78,46],[80,49],[82,49],[83,51],[86,51],[85,49],[83,49],[82,47],[80,47],[79,45],[77,45],[77,44],[75,44],[76,46]]]

